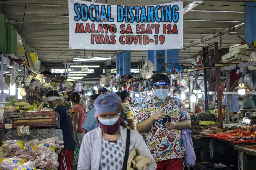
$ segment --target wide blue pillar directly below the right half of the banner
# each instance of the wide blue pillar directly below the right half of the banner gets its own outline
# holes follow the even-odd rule
[[[165,71],[165,63],[179,63],[178,57],[179,50],[146,50],[146,60],[154,63],[155,71]]]

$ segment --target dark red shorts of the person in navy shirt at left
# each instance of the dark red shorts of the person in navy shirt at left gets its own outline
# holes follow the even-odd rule
[[[59,170],[73,170],[74,151],[62,149],[59,153]]]

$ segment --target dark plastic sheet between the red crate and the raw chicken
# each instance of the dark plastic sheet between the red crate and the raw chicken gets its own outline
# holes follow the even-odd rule
[[[36,129],[30,129],[30,134],[26,135],[26,140],[30,141],[32,139],[38,139],[39,141],[51,137],[57,137],[60,141],[63,140],[63,134],[61,129],[55,129],[55,128],[36,128]],[[24,136],[19,136],[17,129],[11,129],[9,130],[5,136],[1,139],[1,141],[6,140],[19,140],[25,142]]]

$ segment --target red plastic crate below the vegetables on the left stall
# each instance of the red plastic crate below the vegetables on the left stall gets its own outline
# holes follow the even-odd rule
[[[17,128],[17,126],[30,125],[30,127],[53,127],[60,128],[60,115],[55,111],[32,111],[3,113],[4,122],[0,124],[1,129],[6,126]],[[10,129],[10,127],[8,128]]]

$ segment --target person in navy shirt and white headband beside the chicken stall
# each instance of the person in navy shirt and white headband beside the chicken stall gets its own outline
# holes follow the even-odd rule
[[[71,170],[73,169],[75,140],[73,137],[73,125],[69,110],[62,104],[61,100],[65,99],[60,97],[56,91],[49,91],[46,94],[46,99],[49,102],[50,107],[60,115],[59,121],[65,147],[59,153],[59,169]]]

